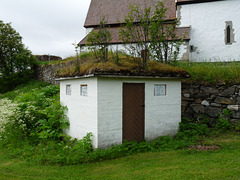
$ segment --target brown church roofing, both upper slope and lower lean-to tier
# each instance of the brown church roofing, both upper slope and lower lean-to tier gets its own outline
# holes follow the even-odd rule
[[[166,20],[176,19],[176,2],[175,0],[162,0],[167,8]],[[179,0],[187,1],[187,0]],[[100,21],[103,17],[110,26],[109,31],[112,36],[110,44],[122,44],[119,37],[120,24],[124,22],[124,18],[130,12],[129,6],[134,4],[144,10],[148,7],[153,8],[159,0],[91,0],[87,18],[84,27],[94,28],[98,31]],[[176,35],[179,39],[190,40],[190,27],[177,28]],[[86,45],[87,37],[84,37],[79,43],[80,46]]]

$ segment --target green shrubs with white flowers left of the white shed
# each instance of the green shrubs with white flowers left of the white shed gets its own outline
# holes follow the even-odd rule
[[[2,125],[5,133],[1,133],[5,144],[24,139],[34,143],[60,141],[65,136],[63,130],[69,122],[65,115],[66,108],[60,105],[58,86],[49,85],[19,93],[14,102],[17,103],[14,112],[3,117],[8,119]]]

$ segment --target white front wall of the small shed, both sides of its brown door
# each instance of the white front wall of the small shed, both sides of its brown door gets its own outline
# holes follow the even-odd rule
[[[123,83],[145,83],[145,138],[174,135],[181,121],[181,81],[128,78],[98,80],[98,142],[102,147],[122,143]],[[154,85],[166,84],[166,96],[154,96]]]

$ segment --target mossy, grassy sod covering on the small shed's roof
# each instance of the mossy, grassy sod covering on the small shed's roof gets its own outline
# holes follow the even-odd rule
[[[172,78],[188,78],[189,73],[181,68],[166,65],[157,61],[149,61],[145,70],[139,68],[136,59],[121,58],[118,64],[112,60],[96,62],[93,59],[80,60],[80,67],[76,65],[65,66],[59,70],[57,76],[76,77],[85,75],[119,75],[119,76],[158,76]]]

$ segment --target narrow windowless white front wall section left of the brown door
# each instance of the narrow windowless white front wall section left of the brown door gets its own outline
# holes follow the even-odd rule
[[[122,143],[122,82],[98,79],[98,142],[102,147]]]

